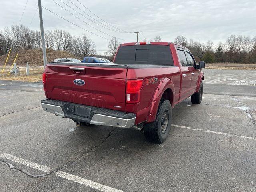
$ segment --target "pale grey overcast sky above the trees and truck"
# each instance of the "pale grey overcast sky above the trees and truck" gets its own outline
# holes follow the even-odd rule
[[[0,0],[0,30],[5,26],[19,24],[22,12],[27,0]],[[88,26],[78,18],[72,16],[55,4],[52,0],[42,0],[42,6],[66,18],[82,28],[110,39],[111,36],[129,39],[119,40],[123,42],[135,42],[136,34],[120,33],[107,30],[90,20],[84,18],[74,10],[68,8],[63,2],[90,18],[81,10],[72,5],[76,4],[87,14],[100,20],[88,10],[86,10],[77,0],[55,0],[58,4],[65,6],[78,18],[94,26],[98,30]],[[110,23],[112,26],[124,31],[140,33],[141,40],[154,39],[160,35],[162,41],[173,42],[176,36],[183,35],[187,39],[207,42],[212,40],[215,44],[219,41],[225,42],[231,34],[242,36],[256,35],[256,0],[79,0],[84,6],[94,14]],[[38,6],[37,0],[28,0],[21,24],[29,26],[32,17]],[[73,36],[87,34],[96,43],[96,50],[100,53],[108,50],[108,40],[90,34],[85,30],[70,24],[58,16],[42,8],[44,30],[61,28],[67,30]],[[90,18],[93,20],[92,18]],[[95,21],[96,22],[96,21]],[[102,21],[101,21],[102,22]],[[105,23],[106,24],[106,23]],[[107,24],[106,24],[107,25]],[[111,28],[113,28],[110,26]],[[30,26],[33,30],[39,30],[38,10]],[[115,28],[114,28],[115,29]],[[109,34],[110,36],[108,36]]]

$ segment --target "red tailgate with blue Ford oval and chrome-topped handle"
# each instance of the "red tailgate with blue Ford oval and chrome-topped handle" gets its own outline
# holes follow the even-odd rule
[[[126,111],[127,66],[49,63],[45,72],[48,98]]]

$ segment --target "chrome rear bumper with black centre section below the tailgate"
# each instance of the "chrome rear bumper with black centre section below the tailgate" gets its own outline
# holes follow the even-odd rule
[[[52,99],[42,100],[41,104],[43,110],[57,116],[94,125],[130,128],[134,126],[136,119],[136,115],[134,113],[125,113],[116,110],[85,106]]]

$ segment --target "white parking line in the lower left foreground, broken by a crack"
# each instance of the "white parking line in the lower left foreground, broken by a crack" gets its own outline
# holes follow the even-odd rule
[[[34,162],[30,162],[28,160],[25,160],[20,157],[16,157],[16,156],[13,156],[13,155],[7,154],[7,153],[0,153],[0,157],[6,158],[8,160],[11,160],[11,161],[14,161],[14,162],[17,162],[20,164],[24,164],[26,166],[41,170],[46,173],[53,170],[50,167],[40,165],[40,164],[37,164]],[[85,185],[85,186],[88,186],[88,187],[91,187],[91,188],[94,188],[94,189],[97,189],[97,190],[100,190],[100,191],[103,191],[103,192],[123,192],[121,190],[118,190],[118,189],[115,189],[112,187],[108,187],[108,186],[102,185],[100,183],[97,183],[97,182],[94,182],[94,181],[91,181],[91,180],[88,180],[88,179],[85,179],[85,178],[82,178],[82,177],[79,177],[76,175],[72,175],[72,174],[69,174],[69,173],[66,173],[63,171],[57,171],[56,173],[54,173],[54,175],[64,178],[64,179],[67,179],[67,180],[70,180],[70,181],[73,181],[73,182],[76,182],[76,183],[79,183],[79,184],[82,184],[82,185]]]

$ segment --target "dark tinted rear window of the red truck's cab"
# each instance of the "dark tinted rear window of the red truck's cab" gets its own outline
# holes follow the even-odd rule
[[[116,54],[118,64],[174,65],[167,45],[120,46]]]

